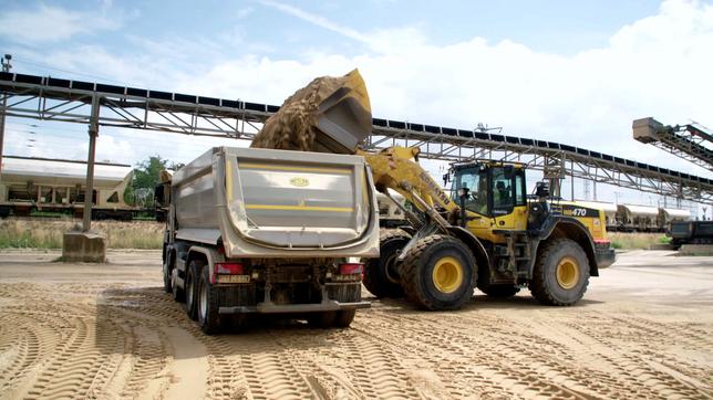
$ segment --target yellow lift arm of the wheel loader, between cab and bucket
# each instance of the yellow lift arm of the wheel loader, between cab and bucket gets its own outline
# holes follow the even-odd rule
[[[441,189],[418,162],[417,147],[389,147],[379,152],[358,150],[371,166],[376,190],[386,193],[393,189],[420,211],[435,212],[436,208],[454,214],[459,207]]]

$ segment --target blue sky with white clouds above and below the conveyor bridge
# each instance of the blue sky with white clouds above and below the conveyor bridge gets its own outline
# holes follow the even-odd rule
[[[643,116],[713,126],[710,1],[352,3],[6,0],[0,52],[16,72],[272,104],[359,67],[376,117],[484,123],[711,176],[631,138]],[[6,152],[83,158],[85,131],[11,118]],[[187,161],[214,144],[105,128],[99,157]]]

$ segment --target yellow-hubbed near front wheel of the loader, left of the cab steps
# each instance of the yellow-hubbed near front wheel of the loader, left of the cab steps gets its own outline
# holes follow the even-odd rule
[[[473,297],[477,280],[471,250],[459,240],[442,234],[418,240],[401,271],[406,297],[431,310],[461,308]]]

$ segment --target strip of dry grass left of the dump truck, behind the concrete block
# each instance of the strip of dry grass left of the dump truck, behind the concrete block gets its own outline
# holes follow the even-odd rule
[[[0,249],[62,249],[62,234],[80,220],[0,220]],[[108,249],[162,249],[164,223],[155,221],[93,221],[106,235]]]

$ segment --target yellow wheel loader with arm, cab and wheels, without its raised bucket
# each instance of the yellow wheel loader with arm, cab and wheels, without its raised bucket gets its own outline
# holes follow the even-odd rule
[[[456,309],[475,286],[493,297],[527,286],[544,304],[571,305],[614,262],[603,212],[548,201],[546,182],[528,196],[523,164],[455,164],[448,194],[415,162],[418,148],[360,154],[379,191],[393,189],[421,211],[404,208],[411,227],[381,231],[380,257],[366,262],[363,281],[378,297]]]

